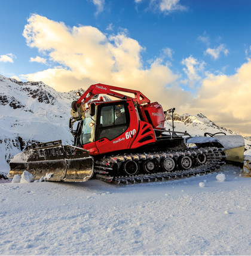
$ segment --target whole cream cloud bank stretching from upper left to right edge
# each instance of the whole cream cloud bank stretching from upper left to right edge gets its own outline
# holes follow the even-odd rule
[[[183,59],[188,83],[201,83],[194,97],[182,90],[182,76],[175,74],[160,57],[149,68],[143,68],[144,49],[126,33],[107,36],[92,26],[69,28],[62,22],[34,14],[23,35],[27,44],[47,54],[55,67],[25,74],[22,79],[44,81],[61,92],[87,89],[95,83],[140,90],[152,102],[160,102],[164,109],[175,106],[181,114],[202,112],[222,126],[250,134],[251,60],[235,75],[226,76],[206,74],[206,63],[192,56]]]

